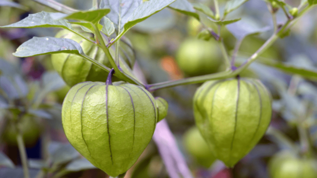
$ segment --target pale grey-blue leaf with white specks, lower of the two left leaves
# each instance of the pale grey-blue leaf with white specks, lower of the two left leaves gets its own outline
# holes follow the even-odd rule
[[[16,57],[29,57],[42,54],[70,53],[84,54],[81,46],[68,38],[33,37],[22,43],[13,53]]]

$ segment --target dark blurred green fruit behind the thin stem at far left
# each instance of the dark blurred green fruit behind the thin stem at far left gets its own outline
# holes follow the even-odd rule
[[[39,124],[31,116],[24,115],[19,126],[21,127],[25,146],[33,146],[40,136]],[[8,145],[17,145],[16,136],[17,132],[14,123],[8,122],[3,132],[3,141]]]

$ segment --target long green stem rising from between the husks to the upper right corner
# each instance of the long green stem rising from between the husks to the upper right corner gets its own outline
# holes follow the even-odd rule
[[[173,86],[179,86],[179,85],[189,85],[189,84],[195,84],[195,83],[202,83],[207,80],[212,79],[225,79],[234,77],[240,72],[242,72],[244,69],[246,69],[252,62],[256,60],[256,58],[261,55],[267,48],[269,48],[278,38],[281,34],[285,33],[286,30],[291,28],[295,22],[308,10],[313,8],[313,6],[307,6],[304,8],[299,14],[298,17],[292,20],[288,20],[277,33],[273,33],[273,35],[252,55],[250,56],[246,62],[244,62],[240,67],[238,67],[234,71],[223,71],[219,73],[212,73],[208,75],[202,75],[202,76],[196,76],[196,77],[190,77],[185,79],[179,79],[179,80],[172,80],[172,81],[166,81],[156,84],[147,85],[147,89],[149,91],[155,91],[162,88],[168,88]]]

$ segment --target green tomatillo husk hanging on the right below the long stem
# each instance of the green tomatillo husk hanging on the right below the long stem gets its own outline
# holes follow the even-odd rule
[[[258,143],[271,121],[271,96],[256,79],[211,80],[194,95],[198,129],[217,159],[233,167]]]

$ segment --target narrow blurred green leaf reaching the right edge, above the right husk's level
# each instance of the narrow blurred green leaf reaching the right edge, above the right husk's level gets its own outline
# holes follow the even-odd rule
[[[317,71],[312,69],[305,69],[303,67],[296,67],[294,65],[285,64],[283,62],[275,61],[275,60],[257,60],[257,62],[260,62],[262,64],[275,67],[277,69],[280,69],[286,73],[291,74],[298,74],[301,75],[303,78],[317,81]]]

